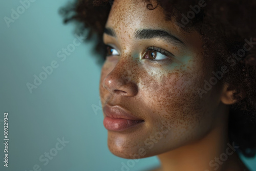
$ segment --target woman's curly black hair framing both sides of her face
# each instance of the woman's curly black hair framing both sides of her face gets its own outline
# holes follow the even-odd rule
[[[76,0],[60,9],[64,23],[75,21],[78,32],[87,32],[87,40],[96,35],[95,50],[105,59],[102,35],[114,0]],[[229,72],[220,80],[235,90],[230,105],[229,141],[239,146],[246,157],[256,153],[256,1],[254,0],[143,0],[148,10],[152,1],[164,9],[165,19],[175,19],[185,32],[198,31],[204,41],[204,57],[214,56],[215,69],[228,66]],[[182,17],[199,2],[207,5],[195,17],[182,23]],[[184,18],[183,18],[184,19]],[[245,44],[247,42],[247,45]],[[251,42],[248,45],[248,42]],[[245,47],[245,45],[247,47]],[[249,49],[245,51],[244,49]],[[231,65],[232,64],[232,65]],[[242,95],[241,95],[242,94]]]

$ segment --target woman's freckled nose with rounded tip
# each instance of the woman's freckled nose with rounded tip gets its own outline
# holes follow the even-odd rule
[[[104,78],[103,87],[111,94],[135,96],[138,93],[138,86],[133,81],[133,76],[132,67],[127,66],[127,60],[120,59],[114,69]]]

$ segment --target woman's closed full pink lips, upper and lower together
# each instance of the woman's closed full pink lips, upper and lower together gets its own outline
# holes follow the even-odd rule
[[[110,106],[107,104],[103,108],[103,113],[106,115],[103,124],[105,129],[109,131],[124,131],[144,122],[119,105]]]

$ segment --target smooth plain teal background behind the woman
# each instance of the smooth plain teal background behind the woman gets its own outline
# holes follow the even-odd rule
[[[20,6],[17,0],[0,2],[0,170],[121,170],[129,160],[109,152],[107,131],[99,106],[99,56],[86,42],[61,61],[57,52],[75,38],[74,26],[64,26],[58,14],[67,1],[35,1],[8,28],[4,17]],[[58,68],[29,92],[42,67],[56,60]],[[4,112],[9,113],[9,167],[4,167]],[[57,138],[69,141],[49,163],[39,157],[55,148]],[[246,160],[256,170],[256,159]],[[254,163],[254,164],[253,164]],[[156,157],[141,159],[130,170],[159,165]],[[202,170],[203,171],[203,170]]]

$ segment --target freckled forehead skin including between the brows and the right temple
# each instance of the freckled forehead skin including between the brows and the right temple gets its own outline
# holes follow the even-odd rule
[[[151,1],[153,8],[157,6],[155,0]],[[166,30],[184,42],[191,52],[203,51],[203,40],[196,30],[185,32],[176,24],[176,20],[165,20],[164,9],[158,5],[155,9],[147,8],[146,0],[115,0],[111,8],[105,27],[112,28],[116,32],[117,40],[123,48],[133,45],[134,33],[138,29]],[[106,34],[104,34],[103,39]]]

